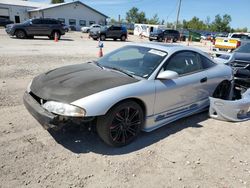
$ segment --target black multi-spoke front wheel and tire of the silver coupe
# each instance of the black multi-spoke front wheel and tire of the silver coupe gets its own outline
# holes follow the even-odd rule
[[[105,116],[97,119],[97,133],[108,145],[121,147],[135,140],[144,125],[144,112],[134,101],[114,106]]]

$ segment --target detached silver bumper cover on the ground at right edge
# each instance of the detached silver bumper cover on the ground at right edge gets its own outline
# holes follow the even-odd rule
[[[209,115],[212,118],[223,121],[250,120],[250,89],[242,94],[239,100],[223,100],[209,97]]]

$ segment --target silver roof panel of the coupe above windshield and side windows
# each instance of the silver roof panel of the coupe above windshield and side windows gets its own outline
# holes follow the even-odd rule
[[[178,44],[165,44],[165,43],[159,43],[159,42],[146,42],[146,43],[131,43],[131,45],[135,46],[142,46],[142,47],[148,47],[148,48],[154,48],[157,50],[165,51],[169,54],[175,53],[177,51],[181,50],[191,50],[195,52],[199,52],[203,55],[206,55],[203,51],[193,48],[190,46],[183,46],[183,45],[178,45]],[[206,55],[207,56],[207,55]]]

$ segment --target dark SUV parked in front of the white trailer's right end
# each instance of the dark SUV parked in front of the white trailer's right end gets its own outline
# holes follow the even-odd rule
[[[166,30],[158,30],[157,32],[150,33],[149,40],[157,40],[159,42],[164,41],[165,39],[173,39],[173,42],[177,42],[180,38],[179,31],[173,29],[166,29]]]

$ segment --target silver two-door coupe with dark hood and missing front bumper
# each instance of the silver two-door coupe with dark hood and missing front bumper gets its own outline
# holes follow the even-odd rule
[[[28,111],[45,129],[77,122],[96,126],[111,146],[209,106],[232,80],[232,69],[180,45],[129,44],[98,61],[35,77],[24,94]]]

